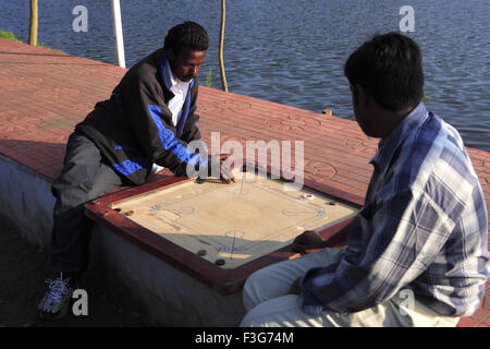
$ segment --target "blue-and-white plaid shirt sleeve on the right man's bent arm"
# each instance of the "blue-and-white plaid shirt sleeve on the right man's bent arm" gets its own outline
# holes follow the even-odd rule
[[[351,313],[390,299],[427,268],[454,225],[427,194],[411,189],[366,205],[342,258],[303,277],[303,310]]]

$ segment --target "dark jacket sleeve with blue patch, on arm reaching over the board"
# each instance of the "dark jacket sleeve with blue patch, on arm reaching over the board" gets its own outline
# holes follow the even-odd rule
[[[158,82],[127,77],[130,81],[123,92],[124,111],[146,156],[175,176],[185,176],[189,164],[196,170],[207,167],[207,157],[189,153],[187,142],[175,136]]]

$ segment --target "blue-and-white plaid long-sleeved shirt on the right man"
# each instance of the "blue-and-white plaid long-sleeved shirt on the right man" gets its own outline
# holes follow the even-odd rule
[[[487,207],[457,131],[419,105],[370,163],[348,246],[304,276],[303,310],[357,312],[412,289],[443,315],[475,313],[490,274]]]

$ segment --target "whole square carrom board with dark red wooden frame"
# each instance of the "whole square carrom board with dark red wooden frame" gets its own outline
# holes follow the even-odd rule
[[[294,256],[286,248],[303,231],[324,232],[357,214],[356,205],[267,172],[234,176],[231,184],[169,178],[102,197],[87,212],[225,293],[256,269]]]

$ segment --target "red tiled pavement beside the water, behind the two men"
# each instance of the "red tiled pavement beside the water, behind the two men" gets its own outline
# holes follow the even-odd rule
[[[52,179],[61,171],[73,127],[110,96],[125,69],[0,39],[0,154]],[[305,177],[364,197],[377,141],[354,121],[199,87],[203,139],[304,141]],[[469,148],[490,207],[490,154]],[[245,156],[245,154],[244,154]],[[294,164],[294,163],[293,163]],[[490,288],[460,326],[490,325]]]

